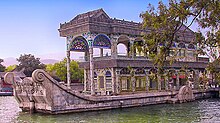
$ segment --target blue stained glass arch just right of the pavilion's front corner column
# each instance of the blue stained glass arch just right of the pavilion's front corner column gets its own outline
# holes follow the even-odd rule
[[[111,48],[111,41],[110,39],[104,35],[104,34],[99,34],[95,37],[93,41],[93,47],[97,48]]]

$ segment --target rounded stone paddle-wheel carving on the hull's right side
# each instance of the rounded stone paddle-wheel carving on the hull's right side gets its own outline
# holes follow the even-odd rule
[[[182,86],[177,95],[180,103],[195,100],[193,91],[189,86]]]

